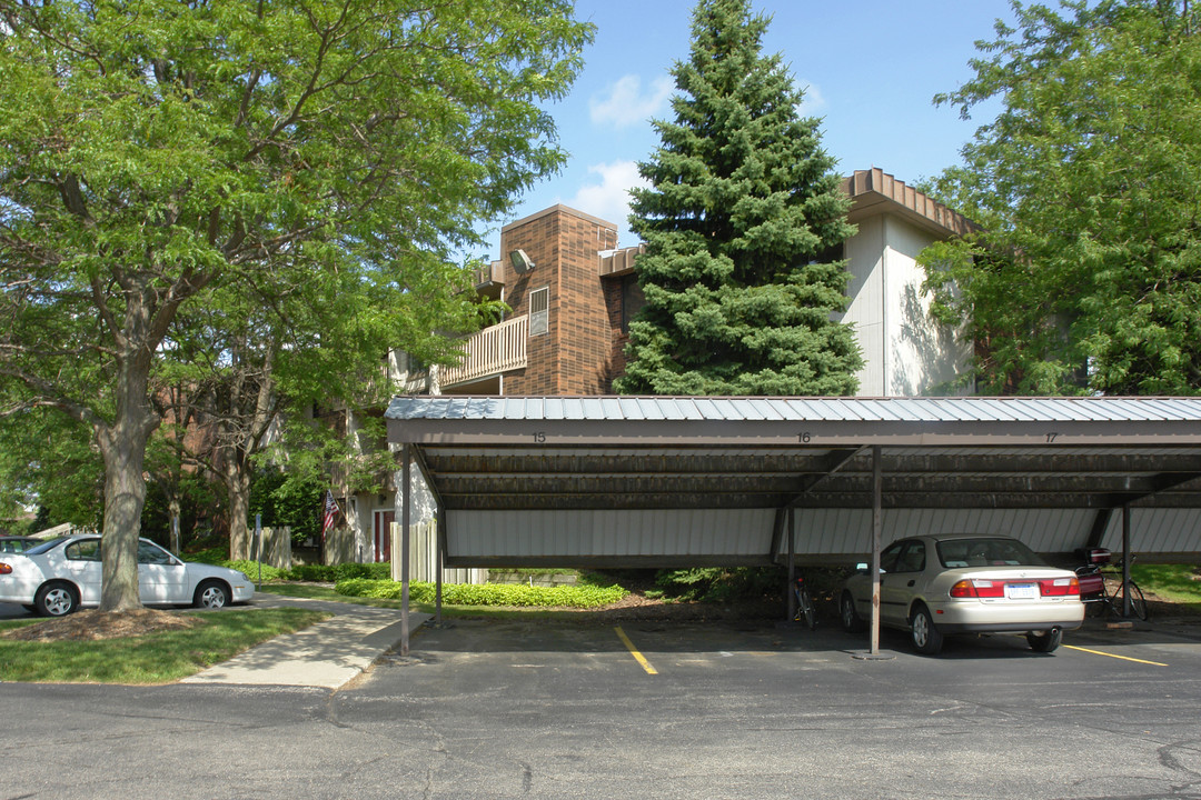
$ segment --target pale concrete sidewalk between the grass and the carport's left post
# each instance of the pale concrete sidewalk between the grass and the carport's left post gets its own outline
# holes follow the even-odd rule
[[[394,609],[263,595],[253,604],[317,606],[336,615],[303,631],[277,636],[180,682],[337,688],[401,640],[400,612]],[[410,637],[430,616],[410,612]]]

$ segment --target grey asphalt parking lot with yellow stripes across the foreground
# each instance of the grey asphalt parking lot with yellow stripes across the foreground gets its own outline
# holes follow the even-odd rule
[[[456,621],[337,692],[0,685],[0,752],[74,742],[0,796],[1201,798],[1194,633]]]

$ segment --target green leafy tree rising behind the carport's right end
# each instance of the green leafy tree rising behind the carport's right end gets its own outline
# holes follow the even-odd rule
[[[1201,391],[1201,36],[1182,0],[1014,5],[975,77],[1002,104],[934,191],[985,230],[922,257],[978,385]]]

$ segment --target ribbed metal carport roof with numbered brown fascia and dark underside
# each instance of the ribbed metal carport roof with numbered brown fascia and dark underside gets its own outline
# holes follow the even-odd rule
[[[1201,398],[435,396],[386,417],[446,510],[872,507],[873,446],[885,509],[1201,509]]]

